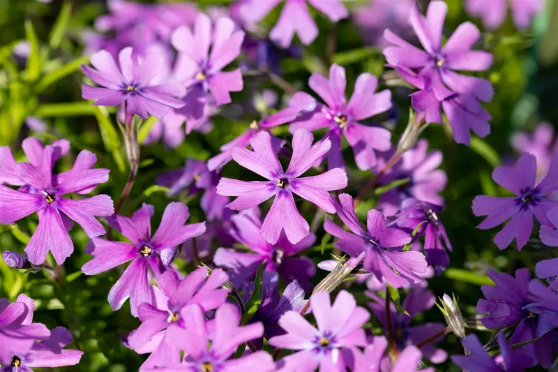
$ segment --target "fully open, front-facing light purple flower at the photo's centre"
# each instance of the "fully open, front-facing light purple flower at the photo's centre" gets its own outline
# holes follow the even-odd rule
[[[273,149],[271,135],[260,132],[250,141],[254,151],[235,147],[232,150],[232,158],[236,163],[268,181],[248,182],[223,177],[217,185],[220,195],[239,197],[227,204],[227,207],[234,210],[250,209],[276,196],[260,230],[262,237],[271,244],[277,243],[282,230],[292,244],[310,234],[308,223],[296,209],[293,193],[328,213],[335,213],[334,200],[328,191],[340,190],[347,186],[347,174],[340,168],[317,176],[300,177],[331,147],[328,139],[312,145],[313,140],[312,133],[305,129],[294,133],[293,154],[285,172]]]

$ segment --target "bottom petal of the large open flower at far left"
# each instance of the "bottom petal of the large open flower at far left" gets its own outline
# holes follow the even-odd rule
[[[74,251],[70,235],[64,228],[60,212],[56,208],[47,207],[39,218],[39,224],[25,247],[27,258],[35,265],[45,262],[48,251],[52,252],[58,265]]]

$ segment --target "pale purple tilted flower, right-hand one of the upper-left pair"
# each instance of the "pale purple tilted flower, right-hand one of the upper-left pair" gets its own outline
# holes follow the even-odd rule
[[[188,27],[173,32],[171,42],[179,51],[174,77],[188,89],[186,106],[179,112],[199,119],[205,105],[230,103],[230,92],[243,89],[239,68],[223,71],[239,56],[243,39],[244,32],[235,31],[229,18],[219,18],[212,31],[211,20],[203,13],[197,16],[193,32]]]

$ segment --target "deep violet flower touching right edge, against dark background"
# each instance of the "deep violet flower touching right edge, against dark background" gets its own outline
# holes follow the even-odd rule
[[[473,200],[473,214],[488,216],[479,229],[494,228],[510,221],[497,233],[494,242],[500,249],[506,248],[515,238],[518,249],[527,244],[533,230],[533,214],[541,225],[552,226],[546,214],[550,209],[558,207],[558,202],[548,200],[545,195],[558,190],[558,156],[552,156],[546,177],[535,186],[536,158],[524,152],[515,166],[502,165],[492,172],[492,179],[516,196],[497,198],[478,195]]]

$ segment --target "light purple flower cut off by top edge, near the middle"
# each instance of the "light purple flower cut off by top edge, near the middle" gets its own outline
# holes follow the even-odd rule
[[[339,0],[307,1],[333,22],[349,16],[347,8]],[[239,11],[248,22],[259,22],[280,2],[281,0],[244,1]],[[277,24],[271,29],[269,38],[286,48],[291,45],[295,33],[304,45],[309,45],[318,36],[318,27],[312,20],[305,0],[285,0],[285,6],[282,8]]]

